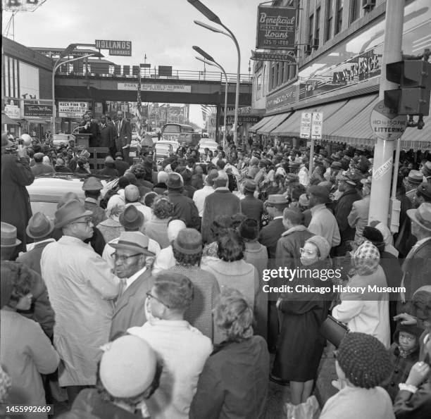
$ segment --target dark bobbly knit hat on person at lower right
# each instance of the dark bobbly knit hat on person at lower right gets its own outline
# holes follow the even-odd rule
[[[392,368],[385,346],[366,333],[347,333],[339,345],[337,361],[355,387],[372,389],[389,375]]]

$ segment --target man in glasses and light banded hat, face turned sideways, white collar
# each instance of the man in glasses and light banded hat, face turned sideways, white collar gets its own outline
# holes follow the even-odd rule
[[[149,239],[141,232],[122,232],[111,247],[115,249],[114,272],[120,278],[120,293],[115,301],[110,341],[127,328],[146,322],[144,301],[154,283],[146,257],[156,256],[149,251]]]

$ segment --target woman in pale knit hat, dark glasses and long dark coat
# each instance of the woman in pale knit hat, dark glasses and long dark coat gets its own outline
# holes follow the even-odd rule
[[[327,259],[330,244],[324,237],[313,236],[306,240],[301,249],[301,266],[298,268],[324,270],[330,268]],[[301,275],[289,284],[294,292],[285,294],[277,301],[280,310],[281,331],[272,376],[282,382],[290,382],[292,404],[306,402],[313,390],[322,357],[325,339],[319,330],[330,308],[332,283],[330,280]],[[323,294],[319,292],[298,292],[298,287],[330,287]],[[304,289],[301,289],[304,291]]]

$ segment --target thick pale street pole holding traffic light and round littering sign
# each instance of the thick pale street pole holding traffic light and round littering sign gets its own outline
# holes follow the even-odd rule
[[[401,61],[404,4],[404,0],[392,0],[386,2],[385,46],[382,57],[382,70],[380,73],[380,101],[385,97],[385,90],[396,89],[398,87],[395,83],[387,81],[386,65],[388,63],[394,63],[395,61]],[[371,183],[368,222],[371,220],[379,220],[382,223],[385,223],[385,225],[388,225],[389,223],[388,216],[392,164],[390,165],[389,170],[386,170],[384,173],[382,173],[382,170],[379,170],[379,168],[387,167],[388,161],[392,162],[394,146],[394,141],[384,139],[377,139],[375,144],[373,182]]]

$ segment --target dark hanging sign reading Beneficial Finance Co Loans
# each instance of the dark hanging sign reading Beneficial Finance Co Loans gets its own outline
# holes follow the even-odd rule
[[[295,49],[296,8],[258,6],[256,49]]]

